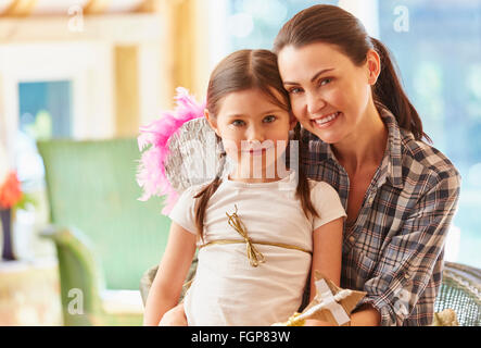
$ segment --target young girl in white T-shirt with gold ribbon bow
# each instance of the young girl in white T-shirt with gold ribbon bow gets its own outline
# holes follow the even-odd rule
[[[242,50],[224,59],[211,75],[205,117],[237,165],[188,188],[172,210],[144,324],[168,324],[164,314],[177,306],[197,247],[183,301],[188,325],[286,321],[306,284],[311,298],[316,293],[311,269],[339,285],[345,211],[331,186],[292,167],[279,171],[296,121],[274,53]]]

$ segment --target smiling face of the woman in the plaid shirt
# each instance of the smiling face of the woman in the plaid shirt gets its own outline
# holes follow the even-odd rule
[[[279,52],[279,71],[292,112],[322,141],[336,144],[363,132],[370,85],[377,78],[376,71],[371,72],[379,67],[376,52],[369,51],[367,57],[357,66],[336,46],[324,42],[287,46]]]

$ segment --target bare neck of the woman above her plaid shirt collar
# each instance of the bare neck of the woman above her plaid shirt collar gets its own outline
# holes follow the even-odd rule
[[[355,130],[334,144],[332,150],[347,173],[357,173],[362,169],[379,166],[387,141],[388,128],[371,99]]]

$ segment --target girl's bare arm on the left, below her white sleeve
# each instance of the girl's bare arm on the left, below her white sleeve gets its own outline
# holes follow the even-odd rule
[[[164,313],[177,306],[195,252],[195,238],[172,222],[167,247],[147,298],[143,325],[159,325]]]

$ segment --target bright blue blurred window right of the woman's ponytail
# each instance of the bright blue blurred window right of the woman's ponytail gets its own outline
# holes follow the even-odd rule
[[[425,132],[463,177],[447,249],[458,237],[456,262],[481,268],[481,2],[378,5],[380,39],[395,57]]]

